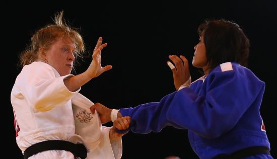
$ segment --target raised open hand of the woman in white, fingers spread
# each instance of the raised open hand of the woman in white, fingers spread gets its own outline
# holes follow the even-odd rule
[[[88,74],[94,78],[103,72],[112,69],[112,65],[101,66],[101,50],[107,46],[107,43],[102,44],[102,37],[99,37],[97,44],[93,50],[92,62],[86,70]]]

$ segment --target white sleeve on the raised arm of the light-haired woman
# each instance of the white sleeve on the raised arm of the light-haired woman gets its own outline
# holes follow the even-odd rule
[[[76,92],[69,91],[63,80],[72,74],[60,76],[55,71],[45,63],[25,65],[16,81],[18,90],[22,91],[17,96],[25,97],[29,106],[42,112],[64,106],[81,88]]]

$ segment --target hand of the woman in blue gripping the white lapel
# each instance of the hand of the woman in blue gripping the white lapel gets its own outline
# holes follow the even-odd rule
[[[112,109],[105,107],[100,103],[95,103],[93,106],[90,107],[92,113],[96,110],[99,114],[100,120],[102,124],[105,124],[111,121],[111,111]]]

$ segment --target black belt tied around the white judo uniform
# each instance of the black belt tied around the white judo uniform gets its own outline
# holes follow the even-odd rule
[[[63,140],[48,140],[35,143],[28,147],[24,151],[24,159],[42,151],[47,150],[66,150],[71,151],[75,157],[80,157],[85,159],[87,157],[87,149],[84,144],[75,144],[69,141]]]

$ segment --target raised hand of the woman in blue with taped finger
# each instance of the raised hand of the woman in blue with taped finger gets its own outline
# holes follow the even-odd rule
[[[171,68],[174,78],[174,86],[176,90],[180,88],[181,85],[186,84],[190,86],[190,72],[188,68],[188,61],[184,56],[170,55],[169,58],[173,61],[176,67]],[[168,61],[169,62],[169,61]],[[189,82],[189,84],[188,84]]]

